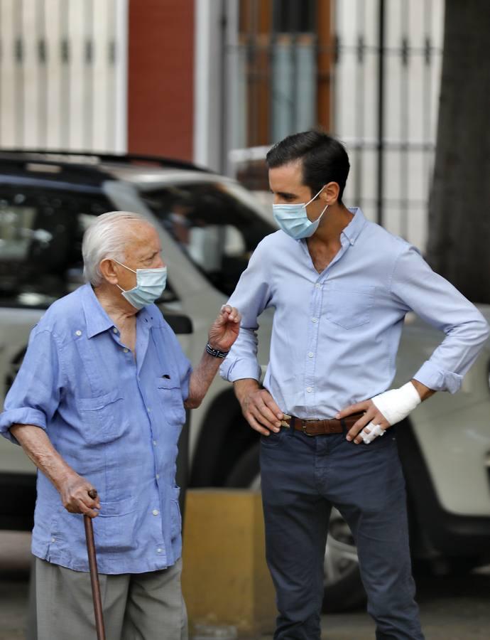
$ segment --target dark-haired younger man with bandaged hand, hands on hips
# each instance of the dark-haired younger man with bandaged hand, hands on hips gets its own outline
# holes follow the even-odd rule
[[[378,639],[420,640],[405,486],[391,425],[435,391],[459,389],[488,336],[479,311],[408,242],[348,209],[349,159],[320,132],[267,155],[273,214],[229,304],[243,313],[222,365],[261,437],[266,554],[275,639],[320,639],[323,556],[332,506],[349,523]],[[263,387],[258,316],[275,311]],[[405,314],[446,337],[413,380],[386,391]]]

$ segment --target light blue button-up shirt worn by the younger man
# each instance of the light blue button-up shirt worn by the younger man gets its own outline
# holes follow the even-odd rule
[[[273,307],[263,385],[283,412],[300,418],[332,418],[388,389],[408,311],[446,334],[413,375],[437,391],[459,389],[489,335],[476,307],[415,247],[366,220],[359,208],[351,212],[341,248],[322,273],[306,241],[279,230],[259,243],[229,299],[242,321],[222,377],[260,379],[257,319]]]

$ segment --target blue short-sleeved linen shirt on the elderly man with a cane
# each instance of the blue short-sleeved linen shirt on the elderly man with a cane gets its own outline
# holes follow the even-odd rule
[[[175,461],[190,363],[155,305],[136,315],[136,361],[89,284],[55,302],[31,332],[0,432],[36,425],[99,492],[99,572],[141,573],[180,558]],[[38,471],[33,554],[88,571],[83,516]]]

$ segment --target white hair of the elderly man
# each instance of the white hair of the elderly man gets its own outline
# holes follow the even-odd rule
[[[111,211],[103,213],[85,231],[82,241],[83,275],[86,282],[94,287],[102,284],[103,277],[99,265],[102,260],[110,258],[124,262],[126,257],[124,245],[128,242],[131,230],[127,223],[144,222],[151,225],[146,218],[129,211]]]

